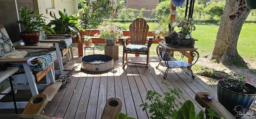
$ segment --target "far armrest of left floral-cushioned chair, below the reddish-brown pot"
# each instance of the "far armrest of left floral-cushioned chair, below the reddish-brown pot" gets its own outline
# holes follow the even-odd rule
[[[48,50],[48,51],[56,51],[55,46],[15,46],[15,49],[20,49],[20,50],[43,49],[43,50]]]

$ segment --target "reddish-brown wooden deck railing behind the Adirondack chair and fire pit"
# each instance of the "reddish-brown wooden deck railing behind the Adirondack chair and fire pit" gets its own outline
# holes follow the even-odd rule
[[[160,37],[158,39],[154,38],[154,31],[148,31],[148,37],[153,37],[154,42],[153,43],[158,43],[163,40],[163,37]],[[83,35],[90,35],[94,36],[94,34],[98,33],[100,34],[100,31],[97,29],[86,29],[86,31],[80,31],[80,36],[81,36],[81,41],[79,39],[73,38],[72,43],[78,43],[78,56],[83,56],[83,43],[84,40],[82,39]],[[130,31],[129,30],[123,30],[124,36],[130,36]],[[101,39],[99,37],[91,37],[92,38],[92,43],[104,43],[104,39]],[[120,41],[117,41],[116,43],[121,43]],[[129,42],[128,42],[129,43]]]

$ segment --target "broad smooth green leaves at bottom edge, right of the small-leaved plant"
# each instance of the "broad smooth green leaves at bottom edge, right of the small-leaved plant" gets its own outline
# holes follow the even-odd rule
[[[187,100],[177,111],[173,119],[204,119],[204,111],[201,110],[198,116],[196,116],[194,103],[191,100]]]

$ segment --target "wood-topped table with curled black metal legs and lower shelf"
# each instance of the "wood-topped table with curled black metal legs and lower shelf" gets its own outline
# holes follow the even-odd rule
[[[165,44],[164,42],[159,42],[158,44],[159,45],[158,45],[158,47],[156,47],[156,52],[161,61],[158,64],[158,66],[156,66],[156,68],[158,68],[160,64],[167,67],[165,74],[164,74],[164,79],[166,78],[167,72],[170,68],[188,68],[191,71],[192,78],[195,78],[195,76],[193,75],[193,71],[191,70],[190,67],[192,65],[194,65],[199,58],[199,53],[196,51],[198,49],[197,47],[194,46],[194,47],[188,47],[188,48],[186,48],[186,47],[174,48],[172,46]],[[159,51],[166,52],[165,56],[161,57],[161,54],[159,54]],[[180,53],[182,53],[182,56],[181,56],[182,59],[184,56],[188,57],[188,62],[186,62],[185,60],[182,60],[182,59],[174,60],[174,58],[172,57],[174,51],[179,51]],[[189,52],[187,52],[187,51],[189,51]],[[195,56],[197,56],[197,59],[192,64],[192,61]],[[162,59],[162,58],[164,58],[164,59]]]

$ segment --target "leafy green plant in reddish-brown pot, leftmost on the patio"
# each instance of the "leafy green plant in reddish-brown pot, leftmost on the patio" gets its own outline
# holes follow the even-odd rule
[[[20,32],[20,37],[26,45],[38,44],[40,31],[55,33],[51,27],[46,26],[45,20],[43,19],[46,17],[42,16],[43,14],[37,15],[38,10],[35,12],[32,8],[28,10],[27,5],[24,8],[20,8],[19,13],[22,20],[16,21],[16,23],[24,26],[25,31]]]

